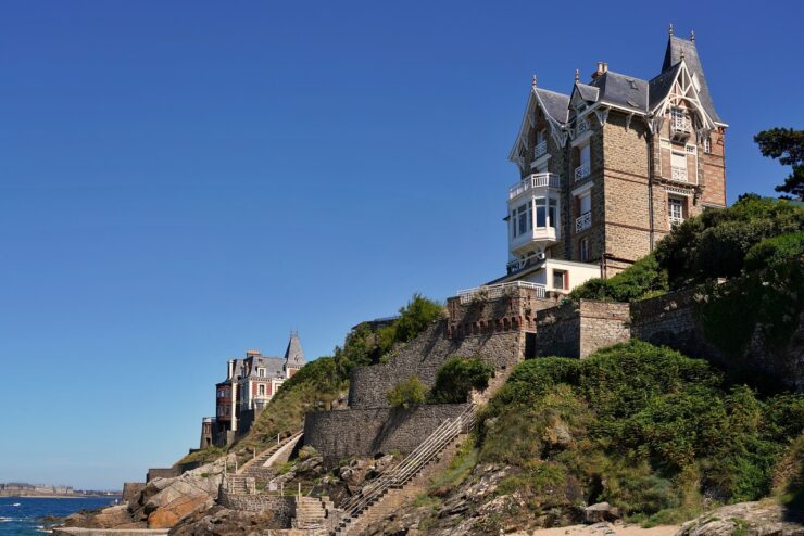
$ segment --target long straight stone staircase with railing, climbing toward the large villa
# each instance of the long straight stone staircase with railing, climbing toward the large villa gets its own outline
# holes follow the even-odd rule
[[[399,508],[410,493],[424,489],[422,482],[414,482],[429,463],[443,458],[448,450],[456,448],[457,439],[475,424],[475,405],[454,419],[444,421],[407,458],[387,470],[366,484],[357,494],[346,501],[340,510],[337,526],[330,528],[330,536],[359,534],[368,523],[379,521],[390,511]]]

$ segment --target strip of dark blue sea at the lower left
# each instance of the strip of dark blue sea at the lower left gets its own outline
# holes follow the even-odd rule
[[[0,497],[0,536],[42,536],[46,515],[66,518],[78,510],[106,507],[114,497],[76,497],[48,499],[35,497]]]

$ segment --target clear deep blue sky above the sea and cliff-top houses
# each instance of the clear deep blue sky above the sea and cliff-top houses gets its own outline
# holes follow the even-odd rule
[[[0,481],[120,487],[196,446],[226,359],[309,357],[506,261],[530,77],[650,78],[694,29],[728,194],[788,173],[801,3],[0,7]],[[781,16],[780,16],[781,15]]]

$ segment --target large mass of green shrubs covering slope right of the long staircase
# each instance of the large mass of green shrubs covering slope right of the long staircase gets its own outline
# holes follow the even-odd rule
[[[599,501],[632,520],[675,522],[775,487],[793,500],[802,476],[804,395],[762,398],[706,361],[639,341],[520,363],[479,422],[458,476],[442,475],[430,495],[463,482],[466,460],[506,468],[486,500],[516,496],[505,511],[523,526],[578,521]]]

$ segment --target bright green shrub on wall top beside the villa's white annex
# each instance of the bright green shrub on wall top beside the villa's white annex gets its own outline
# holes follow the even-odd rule
[[[612,278],[590,279],[576,286],[569,296],[573,299],[633,302],[646,295],[663,294],[667,289],[667,272],[659,267],[655,256],[648,255]]]

